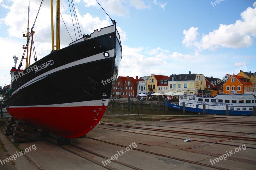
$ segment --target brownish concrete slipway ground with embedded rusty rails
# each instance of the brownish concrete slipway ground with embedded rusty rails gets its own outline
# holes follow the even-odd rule
[[[25,153],[36,146],[16,160],[0,163],[1,170],[256,169],[252,116],[104,116],[86,138],[70,139],[62,147],[56,145],[56,136],[35,134],[31,142],[16,148],[2,133],[4,126],[1,129],[1,160],[20,152],[17,148]],[[190,142],[183,142],[187,138]],[[221,159],[227,153],[226,160]]]

